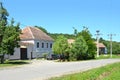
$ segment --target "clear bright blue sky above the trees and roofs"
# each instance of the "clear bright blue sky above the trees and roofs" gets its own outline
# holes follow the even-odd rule
[[[8,19],[20,22],[20,28],[42,26],[50,33],[73,34],[83,26],[93,37],[120,42],[120,0],[0,0],[9,12]]]

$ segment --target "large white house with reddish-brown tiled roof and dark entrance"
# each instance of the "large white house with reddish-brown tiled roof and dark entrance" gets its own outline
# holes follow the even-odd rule
[[[20,35],[20,48],[15,48],[9,59],[32,59],[52,53],[54,40],[36,27],[26,27]]]

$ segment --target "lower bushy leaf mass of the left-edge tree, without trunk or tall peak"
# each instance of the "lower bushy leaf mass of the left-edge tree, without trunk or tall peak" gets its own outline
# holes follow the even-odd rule
[[[13,23],[14,22],[12,20],[11,24],[5,27],[3,40],[1,44],[1,54],[13,54],[14,48],[19,47],[19,35],[21,33],[21,30],[19,28],[19,24],[14,26]]]

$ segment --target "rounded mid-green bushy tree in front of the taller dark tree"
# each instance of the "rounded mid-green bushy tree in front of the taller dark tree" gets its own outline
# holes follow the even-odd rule
[[[72,44],[72,54],[71,58],[73,57],[76,60],[80,59],[86,59],[86,52],[88,50],[88,46],[86,44],[86,41],[82,36],[79,36],[76,38],[75,42]]]

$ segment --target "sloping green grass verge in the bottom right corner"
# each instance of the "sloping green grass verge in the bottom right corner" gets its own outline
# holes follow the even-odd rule
[[[120,80],[120,62],[49,80]]]

